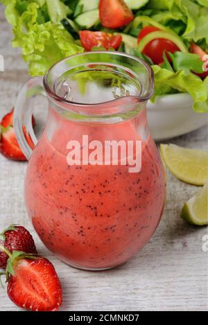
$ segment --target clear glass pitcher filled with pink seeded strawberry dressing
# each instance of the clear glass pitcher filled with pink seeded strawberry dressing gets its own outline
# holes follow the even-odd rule
[[[39,141],[31,116],[44,94]],[[146,120],[153,71],[119,52],[73,55],[31,78],[15,106],[28,159],[25,202],[42,242],[71,266],[104,270],[143,247],[166,197],[164,168]]]

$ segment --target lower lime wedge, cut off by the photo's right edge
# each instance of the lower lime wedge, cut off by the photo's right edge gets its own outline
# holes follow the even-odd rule
[[[181,218],[187,220],[193,225],[207,225],[208,224],[208,182],[184,204],[181,211]]]

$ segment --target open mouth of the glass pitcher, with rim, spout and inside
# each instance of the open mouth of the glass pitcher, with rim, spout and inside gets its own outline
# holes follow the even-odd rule
[[[144,60],[96,51],[56,63],[46,73],[44,87],[51,101],[67,111],[123,114],[144,105],[153,95],[154,78]]]

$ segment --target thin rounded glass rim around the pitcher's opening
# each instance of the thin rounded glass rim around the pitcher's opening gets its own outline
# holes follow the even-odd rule
[[[62,96],[59,96],[58,94],[56,94],[55,90],[54,89],[51,89],[51,87],[49,86],[49,81],[48,81],[48,78],[49,78],[49,75],[51,73],[51,71],[53,71],[53,69],[55,67],[58,66],[58,64],[61,64],[62,62],[65,62],[67,60],[70,60],[70,59],[73,59],[73,58],[77,58],[77,57],[81,57],[81,56],[84,56],[84,55],[118,55],[120,57],[124,57],[124,58],[130,58],[132,60],[135,60],[135,62],[137,62],[138,64],[142,64],[145,68],[146,68],[146,73],[148,74],[148,79],[150,80],[149,82],[149,88],[150,88],[150,91],[149,93],[146,95],[146,96],[135,96],[135,95],[130,95],[130,96],[121,96],[120,98],[115,98],[115,99],[112,99],[112,100],[107,100],[107,101],[104,101],[104,102],[101,102],[101,103],[78,103],[76,101],[72,101],[72,100],[68,100]],[[90,62],[90,64],[94,64],[94,63],[98,63],[98,62]],[[76,66],[73,66],[73,68],[76,67]],[[128,69],[123,66],[123,68],[128,71]],[[77,53],[75,55],[69,55],[67,58],[64,58],[62,60],[59,60],[58,62],[55,62],[55,64],[53,64],[49,69],[48,71],[46,71],[45,75],[44,75],[44,78],[43,78],[43,84],[44,84],[44,89],[46,91],[46,94],[49,96],[49,98],[51,98],[52,100],[55,100],[55,103],[56,105],[58,103],[62,103],[62,104],[65,104],[65,105],[70,105],[71,108],[77,108],[77,107],[97,107],[97,106],[105,106],[106,104],[110,104],[110,103],[116,103],[118,100],[121,100],[121,98],[126,98],[127,100],[130,100],[130,98],[132,98],[132,103],[135,103],[136,101],[137,102],[145,102],[147,101],[148,99],[151,98],[151,96],[153,96],[153,93],[154,93],[154,73],[153,73],[153,69],[150,67],[150,65],[140,59],[140,58],[137,58],[135,55],[131,55],[131,54],[128,54],[128,53],[123,53],[123,52],[119,52],[119,51],[91,51],[91,52],[83,52],[83,53]],[[67,107],[66,107],[67,109]]]

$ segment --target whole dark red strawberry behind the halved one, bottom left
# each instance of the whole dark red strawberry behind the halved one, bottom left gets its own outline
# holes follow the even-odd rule
[[[21,226],[10,225],[0,234],[0,245],[10,253],[14,250],[37,254],[33,237],[27,229]],[[8,255],[0,250],[0,267],[6,268]]]

